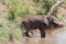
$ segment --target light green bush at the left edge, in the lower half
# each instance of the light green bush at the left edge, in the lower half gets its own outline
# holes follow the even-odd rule
[[[8,28],[0,22],[0,40],[7,40]]]

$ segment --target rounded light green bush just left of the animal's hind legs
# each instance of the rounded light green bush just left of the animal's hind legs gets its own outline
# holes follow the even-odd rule
[[[12,29],[12,28],[11,28],[11,29]],[[10,35],[11,35],[12,37],[19,38],[19,37],[22,36],[22,31],[21,31],[21,29],[19,29],[19,28],[14,28],[13,30],[10,31]]]

